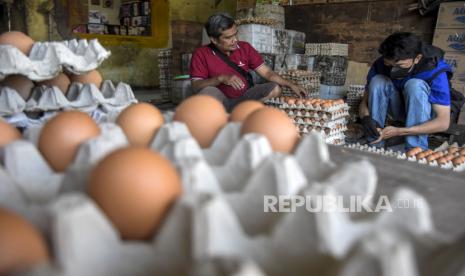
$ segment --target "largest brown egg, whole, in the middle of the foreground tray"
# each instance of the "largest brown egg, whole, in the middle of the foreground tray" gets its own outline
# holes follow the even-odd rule
[[[153,237],[182,186],[176,169],[162,155],[129,147],[97,164],[87,192],[122,238],[140,240]]]

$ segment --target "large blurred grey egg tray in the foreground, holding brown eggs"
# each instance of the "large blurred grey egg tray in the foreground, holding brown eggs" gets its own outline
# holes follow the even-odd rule
[[[28,275],[218,275],[220,268],[222,275],[251,275],[250,269],[252,275],[321,275],[324,268],[308,260],[328,257],[341,266],[341,275],[389,265],[406,275],[417,266],[413,246],[419,238],[438,241],[426,200],[406,188],[392,200],[420,202],[421,208],[381,211],[363,222],[345,212],[302,206],[264,212],[265,196],[342,196],[347,204],[358,196],[372,205],[376,170],[367,160],[336,165],[317,134],[304,137],[287,155],[273,152],[263,136],[241,137],[240,127],[226,125],[208,149],[182,123],[161,127],[150,149],[176,166],[184,193],[147,241],[121,240],[85,193],[98,161],[127,146],[117,125],[101,124],[102,134],[79,148],[64,173],[53,172],[37,150],[40,129],[0,149],[0,205],[29,219],[53,248],[51,262]],[[379,254],[370,253],[373,246]],[[408,258],[395,258],[399,254]],[[223,267],[222,261],[249,273]]]

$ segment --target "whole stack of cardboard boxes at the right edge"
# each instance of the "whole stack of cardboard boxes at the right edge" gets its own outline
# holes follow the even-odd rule
[[[454,70],[452,86],[465,94],[465,2],[442,3],[439,8],[433,45],[444,51]]]

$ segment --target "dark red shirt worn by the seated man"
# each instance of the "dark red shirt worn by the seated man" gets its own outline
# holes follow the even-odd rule
[[[264,64],[262,56],[252,45],[245,41],[237,42],[237,49],[231,52],[229,59],[247,72],[255,70]],[[193,80],[210,79],[222,74],[237,75],[245,84],[245,87],[241,90],[236,90],[232,86],[225,84],[218,85],[217,88],[228,98],[238,98],[249,89],[247,80],[218,57],[208,45],[195,50],[190,68],[190,75]]]

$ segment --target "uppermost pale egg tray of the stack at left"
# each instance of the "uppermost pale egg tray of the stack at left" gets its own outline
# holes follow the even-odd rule
[[[96,40],[36,42],[29,56],[11,45],[0,45],[0,79],[20,74],[33,81],[49,80],[63,70],[81,75],[110,56]]]

